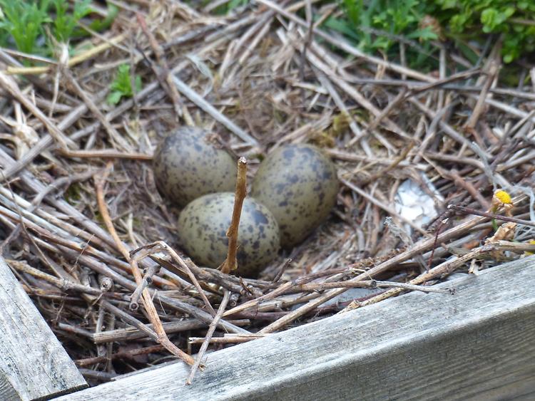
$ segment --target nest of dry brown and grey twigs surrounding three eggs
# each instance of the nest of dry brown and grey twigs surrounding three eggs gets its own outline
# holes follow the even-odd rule
[[[501,85],[495,49],[472,65],[436,43],[422,73],[308,24],[306,1],[140,4],[63,63],[0,51],[2,256],[93,384],[533,251],[535,91]],[[120,63],[143,87],[112,107]],[[273,147],[322,147],[342,183],[329,221],[258,280],[195,266],[150,163],[178,125],[218,133],[250,175]],[[427,225],[394,207],[407,179],[434,201]]]

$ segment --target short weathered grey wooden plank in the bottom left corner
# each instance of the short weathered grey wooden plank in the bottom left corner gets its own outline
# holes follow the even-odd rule
[[[0,400],[33,400],[87,387],[0,257]]]

